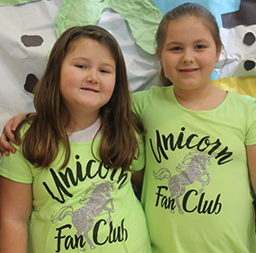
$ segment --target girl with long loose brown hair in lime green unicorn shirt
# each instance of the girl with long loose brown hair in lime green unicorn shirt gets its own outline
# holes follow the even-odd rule
[[[116,39],[97,26],[65,31],[34,105],[1,162],[0,252],[26,252],[27,241],[31,253],[151,252],[130,182],[131,166],[144,167],[143,129]]]

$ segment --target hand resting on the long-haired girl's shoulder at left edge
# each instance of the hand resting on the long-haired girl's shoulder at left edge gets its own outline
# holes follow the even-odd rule
[[[17,144],[13,132],[15,131],[16,127],[22,122],[24,118],[27,116],[26,113],[21,113],[13,118],[11,118],[4,126],[3,133],[0,137],[0,153],[3,155],[4,153],[6,155],[9,155],[10,151],[12,153],[15,153],[15,148],[13,145],[9,143],[9,140],[11,140],[14,144]]]

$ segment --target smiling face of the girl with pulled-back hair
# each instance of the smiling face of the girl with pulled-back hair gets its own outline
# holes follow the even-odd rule
[[[204,23],[199,18],[185,16],[170,22],[166,34],[161,54],[157,50],[156,53],[174,89],[191,91],[208,85],[220,48],[216,49]]]

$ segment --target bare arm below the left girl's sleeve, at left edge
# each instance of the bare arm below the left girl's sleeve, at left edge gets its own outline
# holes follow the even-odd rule
[[[31,184],[0,176],[0,253],[26,253]]]

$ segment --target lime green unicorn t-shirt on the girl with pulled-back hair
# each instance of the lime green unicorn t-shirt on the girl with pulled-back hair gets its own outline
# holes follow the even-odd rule
[[[245,145],[256,100],[228,92],[216,109],[181,107],[173,86],[132,94],[146,128],[142,189],[154,253],[256,252]]]

